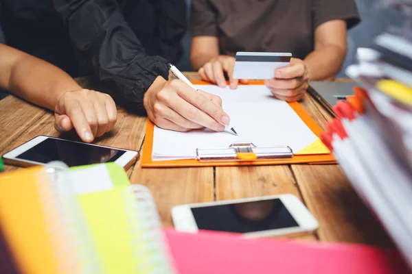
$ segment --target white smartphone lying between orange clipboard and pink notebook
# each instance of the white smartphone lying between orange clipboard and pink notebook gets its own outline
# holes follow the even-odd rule
[[[174,228],[241,233],[246,238],[313,232],[319,226],[295,195],[275,195],[172,208]]]

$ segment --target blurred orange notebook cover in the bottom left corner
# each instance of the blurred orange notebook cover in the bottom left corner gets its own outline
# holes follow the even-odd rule
[[[41,182],[48,179],[41,166],[0,175],[1,232],[21,273],[77,273],[76,265],[64,267],[69,258],[58,258],[56,252],[69,238],[58,223],[47,219],[58,216],[56,207],[45,208],[53,193],[49,184]]]

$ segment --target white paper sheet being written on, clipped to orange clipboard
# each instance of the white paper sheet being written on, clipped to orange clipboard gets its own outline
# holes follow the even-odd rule
[[[238,136],[209,129],[173,132],[155,126],[152,160],[194,159],[198,147],[229,147],[233,142],[253,142],[258,147],[288,145],[297,152],[317,139],[288,103],[275,99],[266,86],[197,88],[222,98]]]

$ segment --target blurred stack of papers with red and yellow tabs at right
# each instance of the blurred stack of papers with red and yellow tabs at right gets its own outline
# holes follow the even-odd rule
[[[411,0],[386,1],[410,12]],[[412,25],[389,27],[357,52],[362,88],[334,107],[321,139],[412,266]]]

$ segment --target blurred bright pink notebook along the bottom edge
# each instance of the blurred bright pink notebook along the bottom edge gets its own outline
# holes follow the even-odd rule
[[[396,251],[364,245],[241,239],[233,234],[183,234],[166,229],[180,274],[411,273]]]

